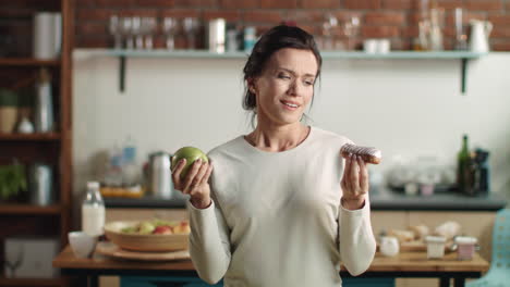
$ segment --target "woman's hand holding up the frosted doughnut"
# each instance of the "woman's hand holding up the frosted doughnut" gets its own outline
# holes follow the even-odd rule
[[[363,208],[368,192],[368,169],[361,157],[350,154],[340,183],[343,190],[341,204],[349,210]]]

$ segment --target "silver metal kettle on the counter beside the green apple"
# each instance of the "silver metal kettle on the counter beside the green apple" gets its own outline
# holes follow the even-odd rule
[[[172,174],[170,171],[171,155],[165,151],[149,154],[147,170],[147,188],[151,196],[170,199],[173,192]]]

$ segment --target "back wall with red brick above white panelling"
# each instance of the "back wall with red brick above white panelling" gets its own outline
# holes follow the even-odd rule
[[[93,57],[82,48],[112,47],[111,15],[223,17],[238,27],[255,26],[257,35],[281,21],[294,21],[314,35],[324,34],[327,13],[339,23],[360,18],[353,46],[364,39],[387,38],[393,50],[410,50],[418,36],[423,2],[365,1],[78,1],[73,123],[74,192],[95,178],[100,153],[127,137],[138,149],[137,163],[155,150],[173,152],[186,145],[209,150],[250,130],[242,110],[244,59],[127,60],[126,90],[119,91],[117,58]],[[453,9],[464,21],[488,20],[491,49],[510,50],[510,1],[435,1],[445,9],[445,49],[454,45]],[[508,13],[508,14],[507,14]],[[155,48],[165,48],[163,33]],[[339,24],[332,32],[345,41]],[[199,37],[198,39],[204,39]],[[197,46],[203,47],[198,40]],[[185,48],[184,37],[175,38]],[[471,148],[490,151],[493,191],[510,197],[510,150],[506,128],[510,55],[491,53],[469,63],[467,91],[460,91],[458,60],[326,60],[311,111],[312,124],[347,135],[360,145],[376,146],[385,161],[373,173],[385,174],[398,159],[435,157],[454,167],[462,134]]]

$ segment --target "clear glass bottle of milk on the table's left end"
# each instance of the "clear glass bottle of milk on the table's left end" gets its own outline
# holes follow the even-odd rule
[[[105,201],[98,182],[87,183],[87,194],[82,202],[82,229],[89,236],[101,236],[105,227]]]

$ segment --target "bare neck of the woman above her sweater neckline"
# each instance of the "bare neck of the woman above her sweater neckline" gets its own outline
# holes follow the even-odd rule
[[[295,148],[308,136],[309,127],[301,123],[284,126],[267,126],[258,123],[255,130],[245,136],[254,147],[279,152]]]

